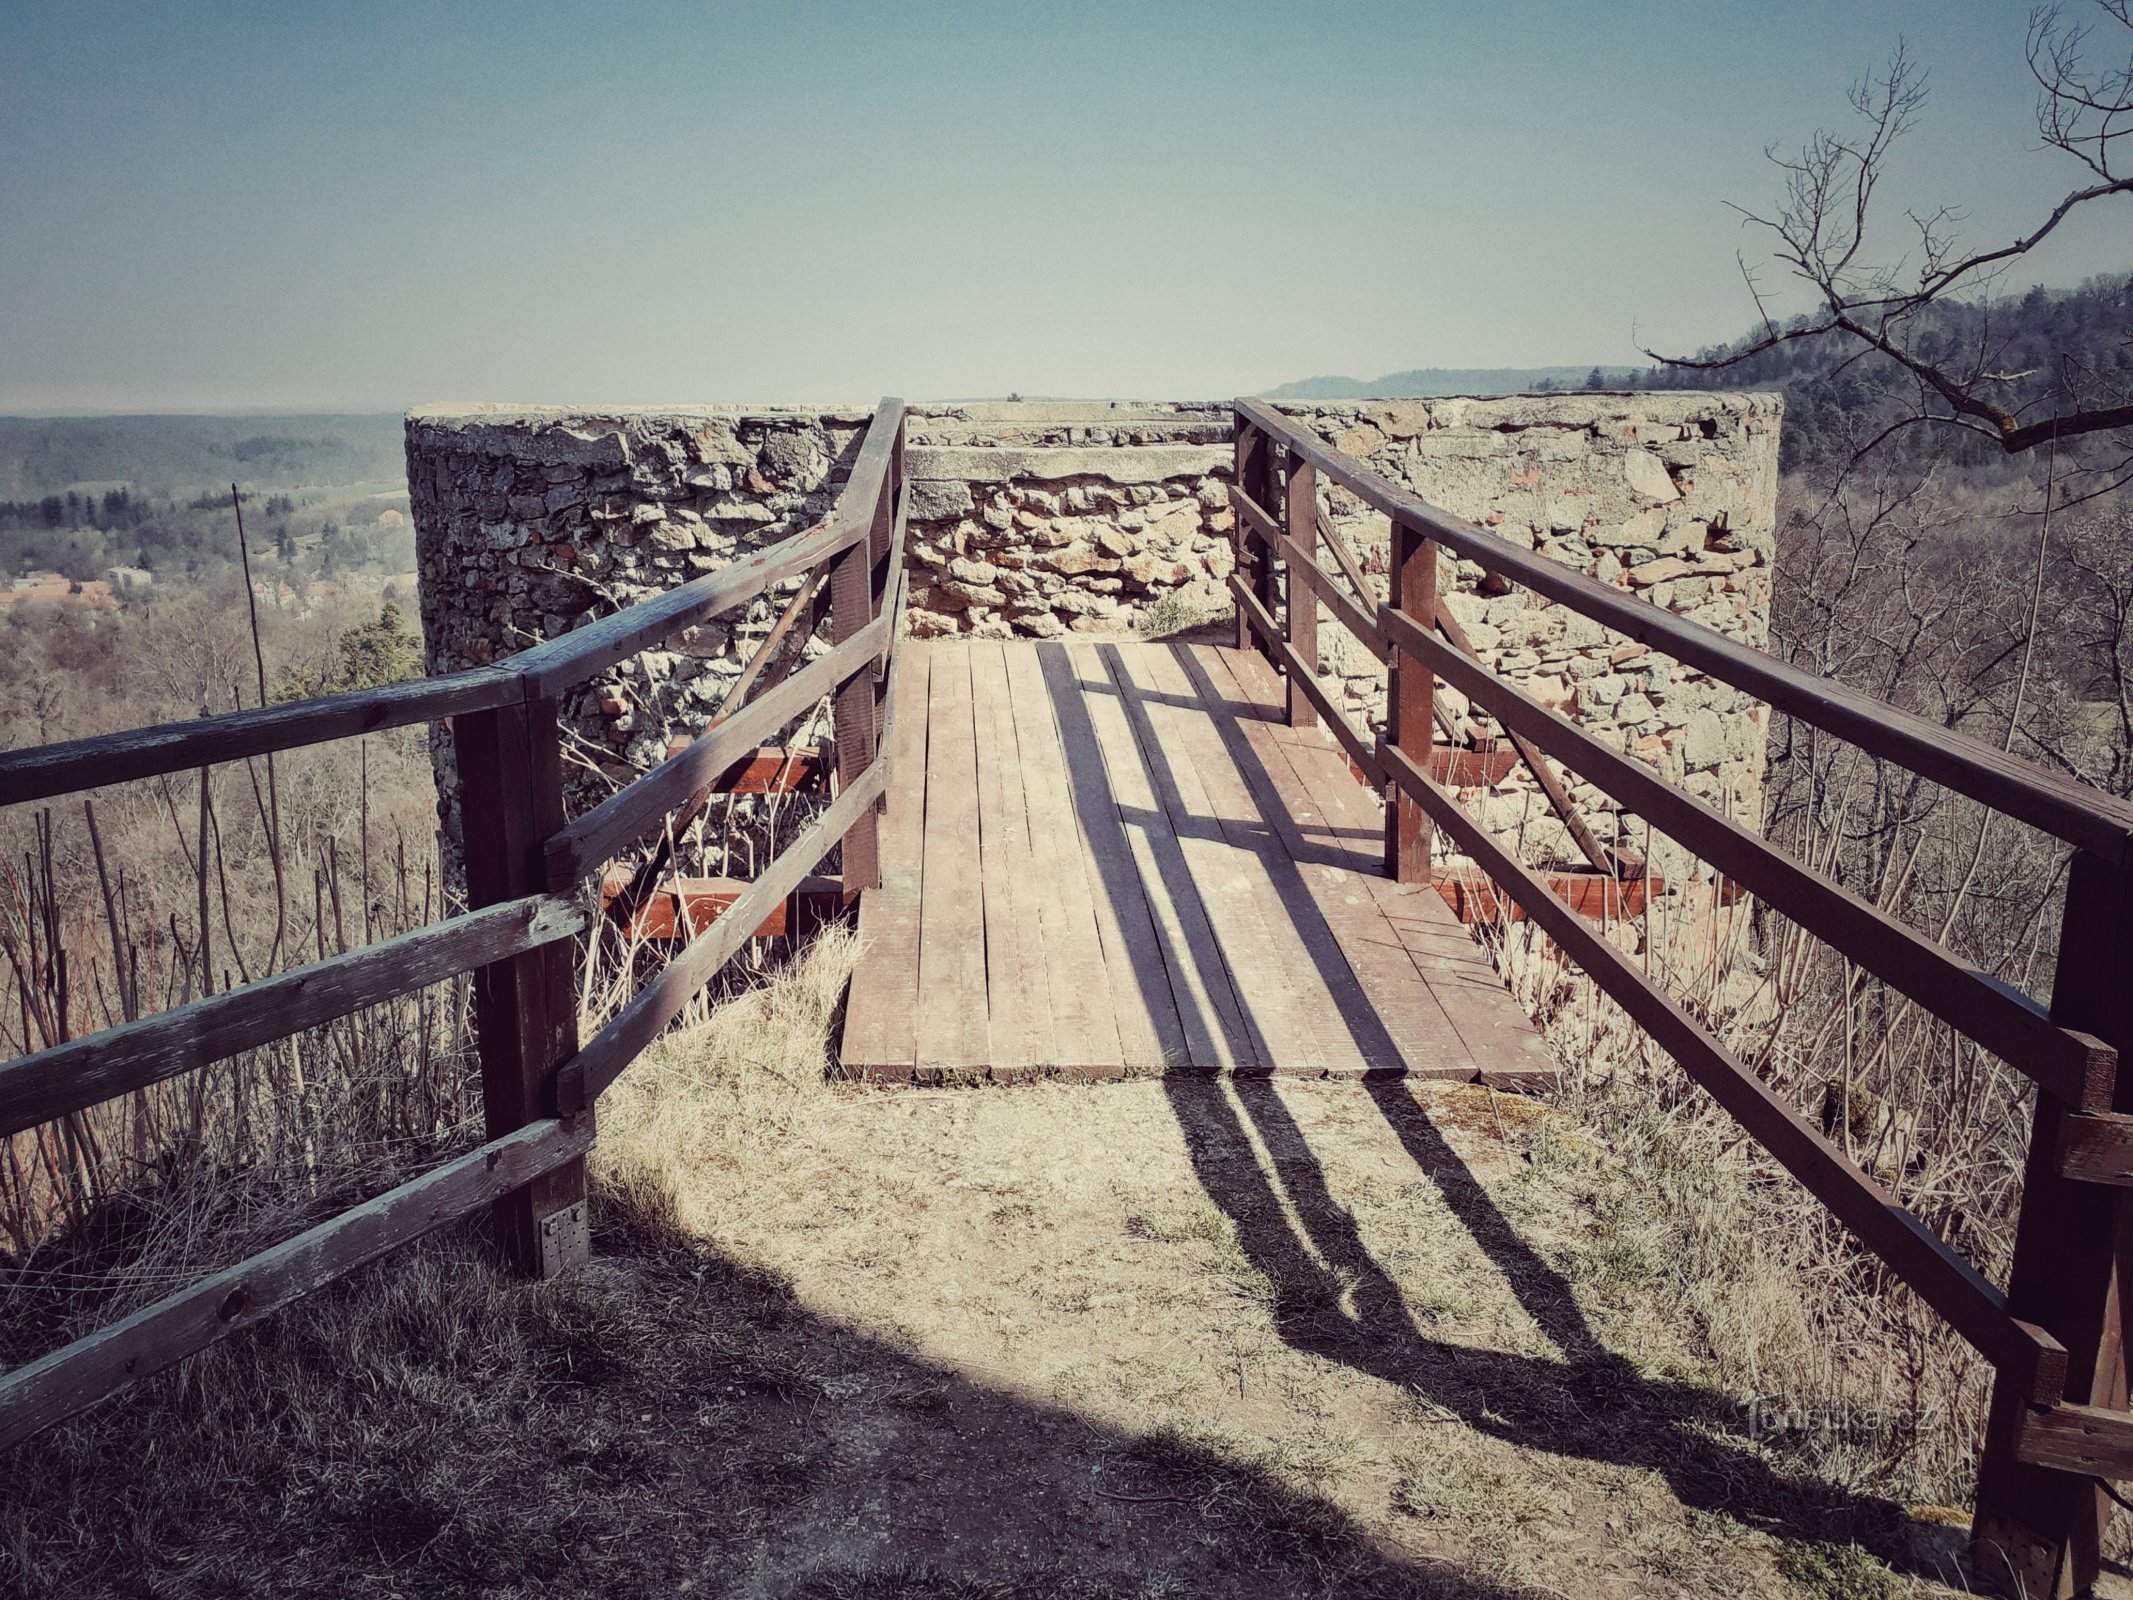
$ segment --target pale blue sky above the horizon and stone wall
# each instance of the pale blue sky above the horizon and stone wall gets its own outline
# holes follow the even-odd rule
[[[2075,0],[2080,4],[2080,0]],[[0,412],[1226,397],[1730,337],[1898,34],[2011,235],[2024,0],[0,0]],[[2133,265],[2133,205],[2024,271]]]

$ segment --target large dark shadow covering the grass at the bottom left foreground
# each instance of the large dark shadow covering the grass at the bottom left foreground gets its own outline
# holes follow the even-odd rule
[[[418,1246],[0,1457],[0,1591],[1517,1600],[1171,1434],[604,1227]]]

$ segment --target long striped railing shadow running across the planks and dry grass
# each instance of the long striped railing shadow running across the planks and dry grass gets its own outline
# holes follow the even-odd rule
[[[1258,770],[1258,757],[1237,727],[1235,713],[1216,715],[1218,698],[1205,672],[1190,657],[1180,657],[1199,695],[1194,702],[1180,702],[1137,681],[1116,646],[1101,651],[1105,670],[1088,678],[1056,646],[1039,646],[1039,653],[1045,657],[1045,678],[1062,725],[1086,723],[1086,695],[1116,695],[1137,734],[1139,781],[1158,796],[1167,826],[1177,836],[1220,841],[1229,838],[1222,823],[1201,815],[1188,800],[1192,785],[1177,770],[1186,757],[1162,742],[1148,715],[1156,704],[1209,710],[1261,809],[1258,817],[1241,823],[1241,836],[1261,841],[1261,866],[1282,911],[1297,924],[1293,943],[1320,966],[1322,992],[1352,994],[1354,979],[1340,939],[1325,926],[1299,875],[1299,858],[1280,843],[1286,817],[1273,815],[1282,806],[1276,785]],[[1066,740],[1066,751],[1084,830],[1118,828],[1122,817],[1137,815],[1120,802],[1118,785],[1105,770],[1103,759],[1116,755],[1090,757],[1092,738]],[[1235,828],[1233,821],[1231,832]],[[1312,841],[1303,838],[1303,847],[1308,853]],[[1344,862],[1352,864],[1352,851],[1344,853]],[[1182,855],[1158,855],[1158,870],[1173,905],[1199,905],[1203,885]],[[1111,898],[1118,915],[1135,913],[1139,885],[1094,887]],[[1220,934],[1222,919],[1212,913],[1207,919]],[[1150,962],[1145,971],[1135,969],[1135,981],[1150,996],[1171,998],[1188,1009],[1171,983],[1171,971],[1190,964],[1192,951],[1169,947],[1160,926],[1154,928],[1154,949],[1160,971]],[[1231,956],[1224,941],[1224,960]],[[1203,979],[1231,981],[1220,971],[1203,973]],[[1237,973],[1231,988],[1250,1024],[1250,971]],[[1346,1005],[1337,1020],[1352,1035],[1361,1060],[1399,1058],[1365,996]],[[1188,1030],[1192,1024],[1186,1018]],[[1271,1058],[1263,1041],[1261,1058]],[[1736,1402],[1696,1385],[1647,1378],[1610,1350],[1587,1323],[1570,1284],[1495,1207],[1401,1082],[1367,1082],[1361,1092],[1369,1094],[1408,1156],[1436,1184],[1446,1207],[1555,1344],[1559,1359],[1429,1338],[1391,1274],[1363,1246],[1354,1218],[1331,1193],[1325,1169],[1271,1082],[1244,1075],[1224,1086],[1192,1073],[1169,1073],[1162,1084],[1201,1188],[1229,1216],[1246,1259],[1271,1284],[1273,1325],[1290,1348],[1382,1378],[1519,1449],[1655,1472],[1683,1506],[1721,1513],[1779,1538],[1858,1542],[1898,1568],[1945,1577],[1911,1553],[1909,1519],[1901,1506],[1773,1468],[1738,1438]],[[1278,1180],[1258,1165],[1252,1133],[1267,1150],[1278,1152]]]

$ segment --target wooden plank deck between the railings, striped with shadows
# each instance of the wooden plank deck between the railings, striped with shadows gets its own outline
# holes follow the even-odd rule
[[[1555,1071],[1444,900],[1384,879],[1376,796],[1265,657],[900,649],[847,1071]]]

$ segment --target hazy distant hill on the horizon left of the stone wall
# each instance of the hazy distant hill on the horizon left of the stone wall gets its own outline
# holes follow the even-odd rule
[[[407,471],[401,414],[320,416],[0,416],[0,499],[77,484],[145,495],[271,484],[397,482]]]

